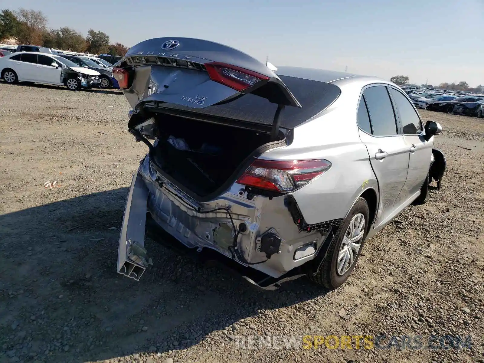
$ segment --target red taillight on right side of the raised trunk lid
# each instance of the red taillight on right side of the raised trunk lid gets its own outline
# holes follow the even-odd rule
[[[226,63],[205,63],[205,68],[212,81],[222,83],[237,91],[243,91],[259,81],[269,79],[268,76],[260,73]]]

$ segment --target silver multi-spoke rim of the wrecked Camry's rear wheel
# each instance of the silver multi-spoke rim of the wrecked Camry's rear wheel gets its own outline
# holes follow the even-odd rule
[[[355,263],[358,252],[362,246],[364,231],[364,215],[358,213],[351,218],[348,229],[341,242],[338,260],[336,262],[336,272],[338,275],[344,275]]]

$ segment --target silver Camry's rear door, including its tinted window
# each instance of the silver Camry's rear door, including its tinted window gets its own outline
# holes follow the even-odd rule
[[[378,180],[379,205],[375,227],[393,216],[408,172],[408,145],[398,133],[388,88],[372,85],[363,90],[358,108],[360,138],[370,155]],[[397,202],[398,201],[398,202]]]

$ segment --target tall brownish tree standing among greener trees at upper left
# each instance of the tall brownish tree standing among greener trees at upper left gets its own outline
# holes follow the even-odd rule
[[[47,17],[41,11],[24,8],[19,8],[15,16],[20,22],[18,41],[23,44],[40,45],[47,30]]]

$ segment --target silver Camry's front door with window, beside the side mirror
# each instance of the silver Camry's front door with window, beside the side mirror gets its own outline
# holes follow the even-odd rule
[[[402,203],[422,187],[430,167],[433,141],[425,141],[423,138],[422,120],[408,98],[393,87],[390,91],[400,121],[400,134],[409,151],[407,181],[397,199],[397,203]]]

